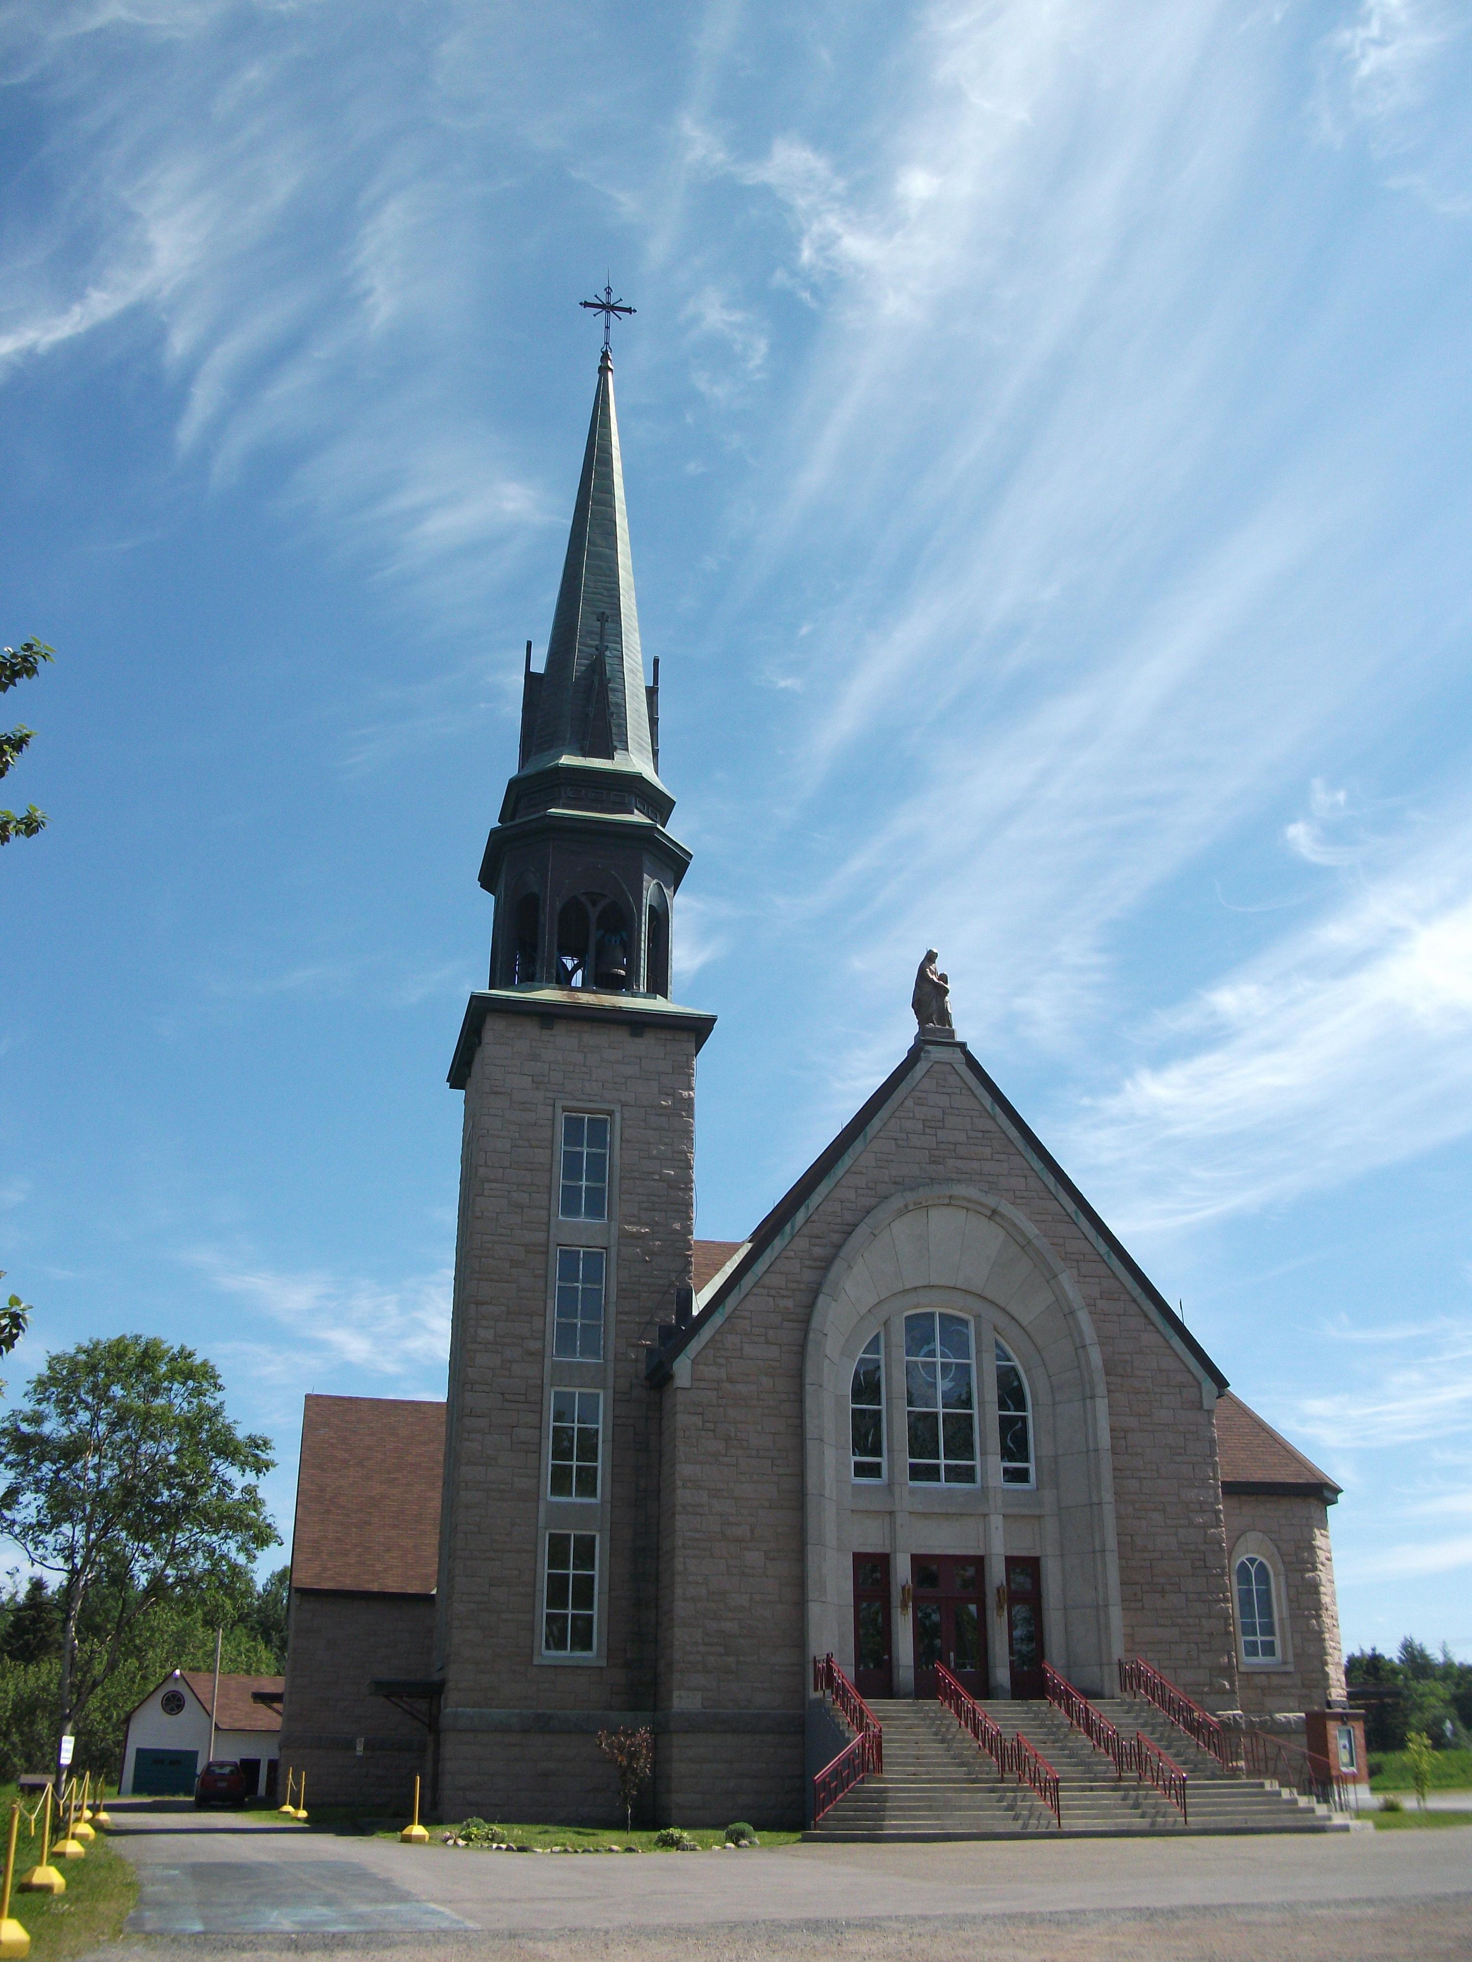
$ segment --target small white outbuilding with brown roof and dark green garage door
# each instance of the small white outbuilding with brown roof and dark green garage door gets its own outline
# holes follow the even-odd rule
[[[247,1789],[277,1789],[281,1676],[222,1676],[214,1756],[234,1758]],[[192,1793],[210,1758],[214,1670],[173,1670],[128,1719],[120,1795]]]

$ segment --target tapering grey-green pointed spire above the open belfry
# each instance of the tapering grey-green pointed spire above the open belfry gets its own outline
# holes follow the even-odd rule
[[[538,697],[524,769],[553,755],[591,755],[656,775],[606,347]]]

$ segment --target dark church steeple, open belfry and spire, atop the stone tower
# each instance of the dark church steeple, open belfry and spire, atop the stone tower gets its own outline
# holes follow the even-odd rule
[[[669,995],[669,903],[689,852],[665,824],[659,663],[644,681],[612,357],[605,343],[546,669],[526,647],[516,773],[481,863],[491,987]]]

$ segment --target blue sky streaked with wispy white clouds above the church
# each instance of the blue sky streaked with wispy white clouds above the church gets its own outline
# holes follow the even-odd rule
[[[1454,0],[0,22],[0,1260],[47,1346],[444,1381],[475,873],[612,283],[699,1230],[960,1032],[1472,1656]],[[277,1554],[277,1558],[283,1558]]]

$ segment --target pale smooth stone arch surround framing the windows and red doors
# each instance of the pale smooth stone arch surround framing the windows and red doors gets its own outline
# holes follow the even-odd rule
[[[973,1317],[1023,1360],[1036,1413],[1036,1489],[1001,1483],[995,1434],[981,1440],[975,1489],[911,1485],[903,1456],[903,1383],[885,1403],[897,1450],[883,1487],[852,1479],[848,1393],[858,1352],[875,1330],[919,1307]],[[987,1336],[991,1340],[991,1336]],[[887,1354],[897,1356],[893,1342]],[[977,1358],[981,1371],[991,1358]],[[895,1417],[897,1399],[901,1403]],[[983,1430],[993,1405],[981,1399]],[[1113,1695],[1123,1642],[1109,1395],[1089,1311],[1068,1265],[1017,1207],[973,1185],[895,1193],[844,1242],[813,1307],[803,1364],[807,1630],[813,1654],[850,1668],[852,1560],[887,1540],[895,1642],[907,1632],[899,1589],[909,1550],[934,1540],[987,1564],[987,1595],[1005,1554],[1036,1548],[1044,1581],[1044,1650],[1081,1689]],[[993,1424],[995,1430],[995,1424]],[[989,1607],[991,1613],[991,1607]],[[989,1642],[1005,1648],[999,1607]],[[993,1654],[993,1693],[1005,1674]],[[909,1693],[907,1668],[897,1693]]]

